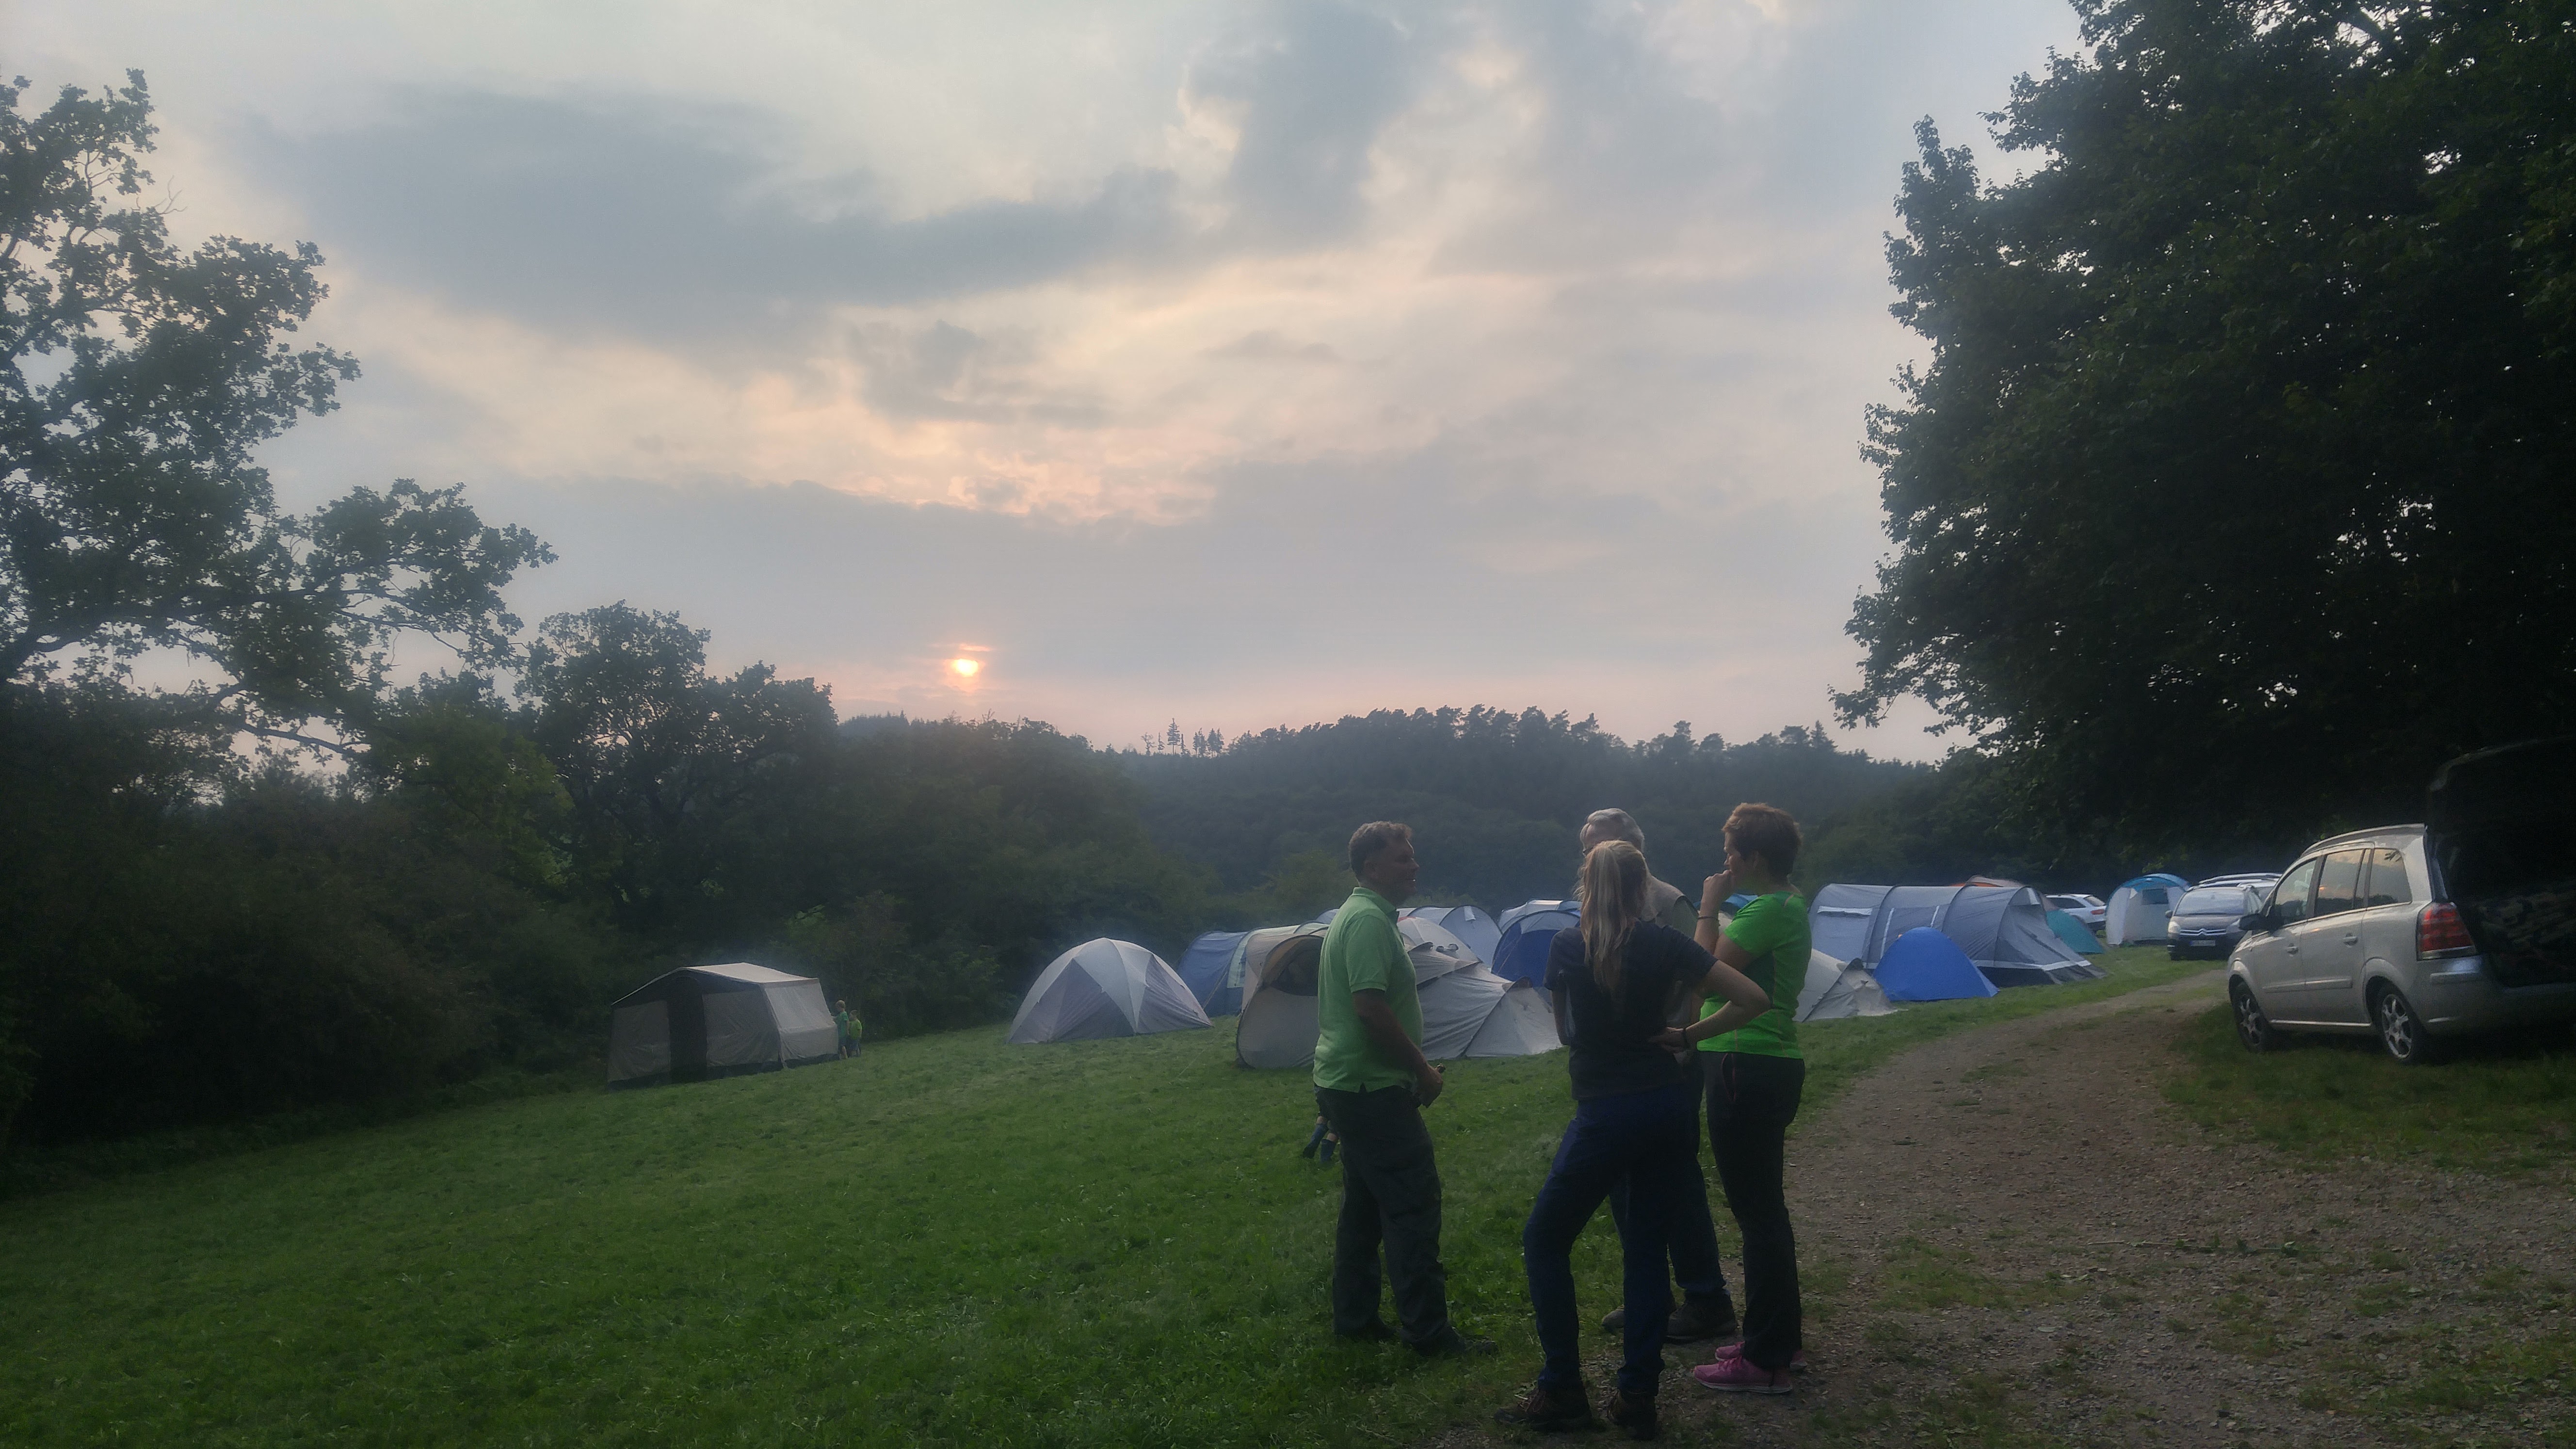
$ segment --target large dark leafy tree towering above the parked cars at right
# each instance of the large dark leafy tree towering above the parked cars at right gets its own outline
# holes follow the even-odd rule
[[[1917,694],[2133,843],[2406,810],[2576,706],[2576,5],[2076,0],[1919,129],[1870,418],[1893,557],[1847,719]]]

